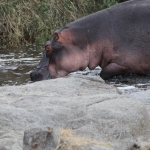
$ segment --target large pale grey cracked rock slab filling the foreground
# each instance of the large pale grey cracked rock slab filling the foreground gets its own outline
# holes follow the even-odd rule
[[[121,95],[96,76],[0,87],[0,150],[53,150],[60,128],[109,145],[86,150],[127,150],[149,142],[149,101],[150,90]]]

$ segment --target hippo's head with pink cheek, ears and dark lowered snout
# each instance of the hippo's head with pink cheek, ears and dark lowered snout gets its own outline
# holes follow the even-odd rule
[[[46,42],[46,53],[31,72],[31,80],[63,77],[70,72],[85,69],[88,66],[88,56],[85,38],[81,40],[81,37],[76,37],[69,29],[56,31],[52,40]]]

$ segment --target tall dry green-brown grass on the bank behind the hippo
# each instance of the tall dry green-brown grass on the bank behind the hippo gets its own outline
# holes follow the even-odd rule
[[[77,18],[119,0],[1,0],[0,45],[44,43],[53,32]]]

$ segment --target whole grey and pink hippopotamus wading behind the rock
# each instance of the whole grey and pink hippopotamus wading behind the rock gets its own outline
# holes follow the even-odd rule
[[[130,0],[56,30],[31,80],[102,68],[104,80],[120,74],[150,73],[150,1]]]

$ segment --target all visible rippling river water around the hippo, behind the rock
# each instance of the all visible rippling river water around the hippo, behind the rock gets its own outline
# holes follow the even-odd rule
[[[30,72],[43,56],[44,48],[41,45],[29,45],[17,48],[0,48],[0,86],[22,85],[31,83]],[[90,76],[99,76],[100,67],[95,70],[77,71],[71,73]],[[123,75],[106,81],[117,87],[118,92],[132,93],[150,89],[150,75]]]

